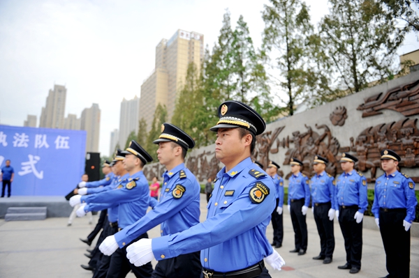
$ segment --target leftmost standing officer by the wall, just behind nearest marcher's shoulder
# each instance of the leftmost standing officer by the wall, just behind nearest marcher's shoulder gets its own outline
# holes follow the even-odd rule
[[[277,206],[272,212],[272,227],[274,228],[274,240],[271,245],[275,248],[282,247],[282,240],[284,238],[284,225],[282,217],[282,206],[284,204],[284,180],[278,175],[278,169],[281,168],[279,164],[270,161],[267,165],[266,173],[272,178],[277,189]]]

